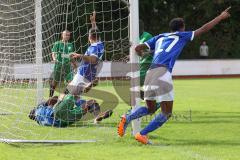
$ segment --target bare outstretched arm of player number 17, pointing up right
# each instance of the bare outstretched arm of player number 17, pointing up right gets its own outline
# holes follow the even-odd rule
[[[194,33],[194,36],[200,36],[203,33],[208,32],[209,30],[211,30],[215,25],[217,25],[219,22],[221,22],[222,20],[227,19],[228,17],[230,17],[229,14],[229,10],[231,9],[231,7],[228,7],[225,11],[223,11],[219,16],[217,16],[216,18],[214,18],[212,21],[206,23],[205,25],[203,25],[201,28],[197,29]]]

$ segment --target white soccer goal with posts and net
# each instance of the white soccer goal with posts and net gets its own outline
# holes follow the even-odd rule
[[[136,68],[138,62],[134,54],[139,37],[138,0],[2,0],[0,10],[0,141],[83,143],[117,136],[119,115],[130,108],[129,96],[133,106],[139,103],[135,98],[139,88],[129,86],[136,86],[139,72],[133,69],[130,78],[125,74],[126,66]],[[28,114],[48,99],[53,44],[68,30],[74,52],[84,54],[93,11],[105,52],[97,75],[100,82],[83,97],[96,99],[102,111],[112,109],[114,114],[99,125],[89,115],[65,128],[40,126]],[[131,77],[135,79],[130,81]],[[55,94],[61,92],[57,88]],[[123,109],[115,112],[115,107]],[[133,122],[133,132],[139,126],[139,120]]]

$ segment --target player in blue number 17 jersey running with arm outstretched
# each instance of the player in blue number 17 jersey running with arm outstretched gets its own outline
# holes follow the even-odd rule
[[[180,55],[184,46],[198,37],[208,32],[215,25],[230,17],[228,10],[223,11],[219,16],[201,28],[185,32],[185,24],[182,18],[174,18],[170,22],[171,33],[163,33],[144,44],[138,45],[135,50],[139,56],[144,55],[144,50],[149,48],[153,51],[153,61],[150,70],[147,72],[144,82],[144,99],[147,107],[140,107],[129,115],[123,115],[118,125],[118,135],[122,137],[128,124],[142,116],[153,114],[156,111],[156,101],[160,102],[162,112],[158,114],[140,133],[135,135],[135,139],[143,144],[149,144],[147,134],[161,127],[171,117],[173,108],[173,83],[172,69],[175,61]]]

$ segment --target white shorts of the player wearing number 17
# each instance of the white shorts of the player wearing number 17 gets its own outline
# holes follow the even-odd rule
[[[172,75],[166,67],[148,70],[144,81],[144,100],[173,101]]]

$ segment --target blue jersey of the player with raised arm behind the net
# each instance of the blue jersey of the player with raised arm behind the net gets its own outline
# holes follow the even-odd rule
[[[104,44],[101,41],[91,44],[91,46],[88,47],[85,53],[85,55],[87,56],[96,56],[98,61],[102,59],[103,54],[104,54]],[[90,82],[95,79],[96,72],[97,72],[97,63],[91,64],[89,62],[83,62],[79,67],[79,74],[82,75],[87,80],[89,80]]]

